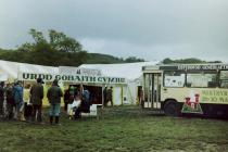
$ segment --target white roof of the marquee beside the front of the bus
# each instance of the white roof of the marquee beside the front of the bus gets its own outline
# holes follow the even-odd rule
[[[137,62],[123,64],[83,64],[79,67],[101,69],[102,74],[110,77],[125,77],[127,79],[139,78],[142,66],[155,65],[159,62]]]

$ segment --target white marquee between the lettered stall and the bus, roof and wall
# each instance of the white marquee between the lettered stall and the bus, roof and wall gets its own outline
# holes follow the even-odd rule
[[[111,77],[125,77],[127,85],[121,92],[119,87],[114,87],[115,104],[135,104],[137,102],[138,86],[142,86],[142,66],[155,65],[159,62],[137,62],[123,64],[83,64],[81,68],[100,69],[102,75]],[[110,87],[110,86],[107,86]],[[123,97],[121,97],[123,94]],[[124,100],[124,98],[126,100]]]

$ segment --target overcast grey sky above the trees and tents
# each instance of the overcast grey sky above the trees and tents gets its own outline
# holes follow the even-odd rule
[[[228,0],[0,0],[0,48],[55,29],[88,52],[228,62]]]

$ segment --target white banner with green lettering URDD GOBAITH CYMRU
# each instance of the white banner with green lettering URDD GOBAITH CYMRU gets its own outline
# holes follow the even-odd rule
[[[69,83],[94,83],[94,84],[126,84],[125,78],[121,77],[105,77],[105,76],[87,76],[87,75],[51,75],[51,74],[35,74],[35,73],[20,73],[20,80],[36,80],[38,77],[45,81],[60,81]]]

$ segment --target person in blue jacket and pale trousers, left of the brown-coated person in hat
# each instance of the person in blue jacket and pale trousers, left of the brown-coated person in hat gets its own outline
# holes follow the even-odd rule
[[[23,109],[24,109],[23,94],[24,94],[24,89],[22,87],[22,81],[16,81],[15,86],[13,87],[13,97],[16,106],[16,117],[18,121],[25,121],[23,114]]]

